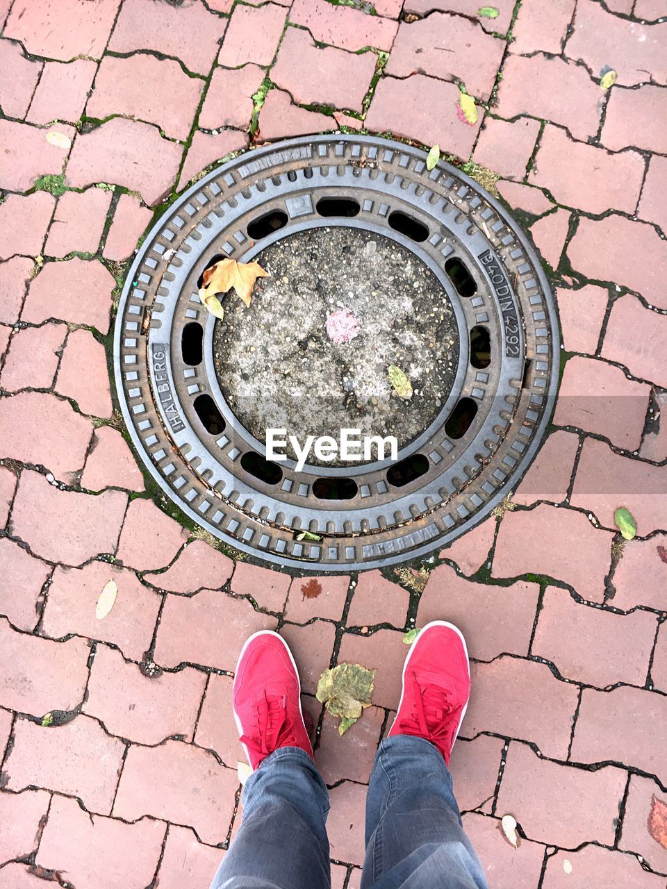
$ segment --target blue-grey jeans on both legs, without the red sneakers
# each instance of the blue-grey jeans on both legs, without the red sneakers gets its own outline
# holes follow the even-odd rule
[[[267,757],[245,784],[243,823],[211,889],[329,889],[329,795],[303,750]],[[488,889],[452,776],[429,741],[382,741],[366,795],[362,889]]]

